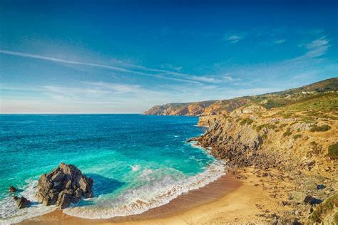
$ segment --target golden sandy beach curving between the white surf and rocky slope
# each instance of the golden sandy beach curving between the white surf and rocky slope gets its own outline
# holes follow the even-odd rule
[[[232,170],[203,188],[135,216],[91,220],[53,211],[20,224],[260,224],[266,221],[262,213],[281,206],[265,191],[264,182],[270,178],[263,180],[254,171]]]

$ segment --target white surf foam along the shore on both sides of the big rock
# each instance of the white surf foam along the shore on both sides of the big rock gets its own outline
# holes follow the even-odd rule
[[[194,145],[195,143],[190,144],[198,147]],[[130,165],[130,168],[133,172],[141,169],[138,164]],[[95,202],[93,205],[72,205],[71,208],[64,209],[63,212],[86,219],[108,219],[115,216],[141,214],[148,209],[168,204],[180,194],[204,187],[223,174],[225,174],[225,164],[218,160],[212,162],[205,168],[205,171],[193,177],[187,177],[173,168],[145,168],[140,171],[137,177],[139,179],[137,182],[140,184],[139,187],[127,189],[115,199],[105,199],[102,196],[93,198],[88,201],[91,202],[93,200]],[[24,189],[24,192],[20,195],[32,202],[28,208],[18,209],[16,202],[10,195],[0,200],[0,224],[18,223],[24,219],[41,216],[56,209],[56,206],[43,206],[36,202],[34,197],[36,184],[37,180],[29,179],[26,180],[26,185],[19,187],[19,189]]]

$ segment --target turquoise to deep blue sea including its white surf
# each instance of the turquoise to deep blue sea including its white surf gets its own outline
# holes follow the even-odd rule
[[[60,162],[94,180],[94,198],[65,209],[91,219],[138,214],[223,173],[205,150],[185,142],[205,132],[198,117],[0,115],[0,219],[21,221],[55,209],[34,199],[36,181]],[[9,186],[33,204],[16,209]]]

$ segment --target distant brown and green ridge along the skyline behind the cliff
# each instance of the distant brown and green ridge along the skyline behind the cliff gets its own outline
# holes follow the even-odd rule
[[[299,100],[313,97],[321,93],[337,92],[338,78],[330,78],[317,83],[304,85],[275,93],[263,95],[244,96],[229,100],[210,100],[196,103],[168,103],[155,105],[145,111],[146,115],[217,115],[232,112],[244,105],[258,104],[264,108],[279,108]]]

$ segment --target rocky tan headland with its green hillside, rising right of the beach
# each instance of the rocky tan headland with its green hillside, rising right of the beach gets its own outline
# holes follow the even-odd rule
[[[225,110],[195,114],[209,130],[188,141],[225,160],[237,179],[259,179],[252,185],[267,193],[255,204],[262,222],[338,224],[337,90],[332,78],[227,100]],[[228,107],[238,99],[247,101]]]

